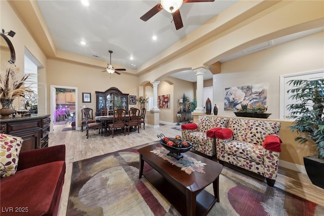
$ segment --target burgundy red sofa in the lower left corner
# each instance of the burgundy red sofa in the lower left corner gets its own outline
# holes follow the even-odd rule
[[[65,146],[23,151],[17,172],[0,180],[1,215],[57,215]]]

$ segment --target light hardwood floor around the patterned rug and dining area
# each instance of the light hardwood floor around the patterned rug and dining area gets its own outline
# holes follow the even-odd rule
[[[147,142],[158,140],[156,135],[160,133],[166,136],[181,135],[181,127],[179,125],[160,125],[159,128],[146,125],[145,130],[142,126],[139,134],[136,131],[124,136],[124,134],[116,132],[114,138],[111,138],[111,136],[100,136],[98,130],[91,130],[87,139],[85,131],[62,131],[66,127],[71,127],[71,125],[68,123],[65,125],[54,125],[54,132],[50,133],[49,140],[49,146],[60,144],[66,146],[66,173],[58,214],[60,216],[66,215],[72,163],[74,161],[140,146]],[[324,189],[312,185],[306,174],[279,167],[275,187],[324,206],[324,200],[322,199]]]

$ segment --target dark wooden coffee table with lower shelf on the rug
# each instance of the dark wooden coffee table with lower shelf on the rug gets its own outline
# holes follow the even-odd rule
[[[205,173],[187,174],[180,167],[151,153],[150,151],[155,147],[162,146],[156,143],[138,150],[140,153],[139,178],[144,175],[181,215],[206,215],[213,205],[219,202],[219,174],[223,166],[195,153],[186,152],[182,154],[207,164],[204,168]],[[153,169],[143,172],[144,161]],[[214,196],[204,190],[212,183]]]

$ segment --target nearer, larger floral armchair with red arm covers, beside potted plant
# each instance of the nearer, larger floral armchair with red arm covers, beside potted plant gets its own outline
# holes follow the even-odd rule
[[[281,151],[276,135],[280,126],[279,122],[229,119],[227,128],[215,132],[218,160],[260,174],[272,187]]]

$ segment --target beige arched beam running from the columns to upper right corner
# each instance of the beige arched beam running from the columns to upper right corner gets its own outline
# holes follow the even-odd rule
[[[238,5],[234,5],[224,11],[219,16],[213,18],[213,29],[211,35],[205,41],[191,47],[190,50],[182,52],[176,58],[157,64],[150,69],[150,73],[140,75],[140,83],[145,80],[159,81],[173,72],[183,68],[196,69],[199,67],[209,67],[223,57],[249,48],[253,45],[269,41],[284,35],[308,30],[323,26],[324,19],[324,2],[323,1],[239,1]],[[250,4],[258,4],[251,6]],[[260,9],[262,4],[275,4],[267,9]],[[241,6],[241,7],[238,7]],[[251,9],[245,8],[250,6]],[[245,12],[241,10],[245,9]],[[257,15],[253,12],[258,11]],[[245,20],[235,22],[233,16],[244,14]],[[247,17],[249,17],[247,19]],[[231,20],[232,18],[232,20]],[[235,17],[236,18],[236,17]],[[281,18],[278,21],[278,18]],[[206,29],[207,26],[201,28]],[[224,29],[225,28],[225,29]],[[199,28],[199,30],[201,30]],[[194,31],[192,34],[199,34],[200,31]],[[191,38],[192,34],[186,37],[186,40],[180,40],[175,47],[182,47]],[[167,56],[168,50],[160,55]],[[152,61],[156,59],[155,57]],[[255,60],[254,60],[255,61]],[[151,62],[151,61],[150,61]],[[147,62],[149,63],[149,62]],[[146,63],[146,64],[147,64]],[[239,65],[236,65],[239,67]],[[139,70],[142,67],[139,68]],[[221,67],[222,68],[222,67]],[[139,71],[140,72],[140,71]]]

